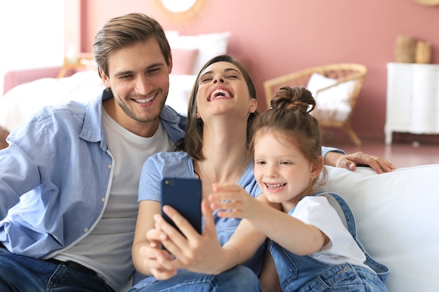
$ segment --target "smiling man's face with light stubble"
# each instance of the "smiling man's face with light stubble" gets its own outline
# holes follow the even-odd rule
[[[168,66],[154,38],[115,50],[108,58],[108,76],[101,71],[118,105],[110,116],[128,130],[136,123],[158,125],[171,69],[172,60]]]

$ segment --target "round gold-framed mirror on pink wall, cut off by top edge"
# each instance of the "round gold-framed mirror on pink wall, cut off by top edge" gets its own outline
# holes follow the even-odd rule
[[[155,0],[167,20],[186,22],[201,14],[207,0]]]

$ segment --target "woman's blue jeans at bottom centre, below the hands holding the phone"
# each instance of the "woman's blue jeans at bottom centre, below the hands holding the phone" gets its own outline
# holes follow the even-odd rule
[[[155,279],[153,277],[147,277],[137,283],[128,292],[262,291],[256,274],[243,265],[238,265],[221,274],[199,274],[187,270],[180,270],[175,277],[168,280],[149,281],[151,278]]]

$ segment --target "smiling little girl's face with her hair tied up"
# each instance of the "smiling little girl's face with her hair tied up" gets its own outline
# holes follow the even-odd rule
[[[289,211],[304,195],[310,195],[312,179],[320,169],[276,132],[259,134],[255,139],[255,179],[267,199],[283,203],[284,210]]]

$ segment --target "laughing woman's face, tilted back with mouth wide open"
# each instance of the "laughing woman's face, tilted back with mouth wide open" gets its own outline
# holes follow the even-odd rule
[[[216,62],[207,67],[198,80],[198,117],[227,114],[247,120],[256,111],[256,99],[249,96],[241,71],[229,62]]]

